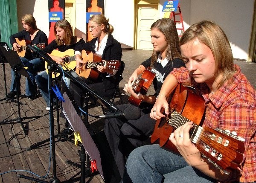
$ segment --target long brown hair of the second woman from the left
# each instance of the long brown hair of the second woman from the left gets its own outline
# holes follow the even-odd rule
[[[57,45],[60,46],[60,45],[63,45],[64,42],[63,42],[63,40],[60,40],[57,36],[57,32],[56,32],[57,27],[64,29],[64,31],[65,31],[65,37],[64,37],[65,44],[66,45],[71,44],[71,41],[73,38],[73,29],[72,29],[72,26],[70,25],[70,23],[67,20],[62,19],[62,20],[59,20],[58,22],[56,22],[54,25],[55,41],[57,42]]]

